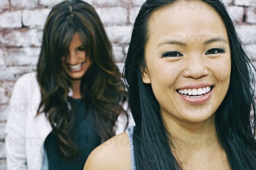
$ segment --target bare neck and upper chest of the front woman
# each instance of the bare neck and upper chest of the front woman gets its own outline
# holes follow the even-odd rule
[[[214,114],[204,122],[185,122],[170,113],[161,114],[170,134],[172,153],[184,169],[230,169],[218,141]]]

